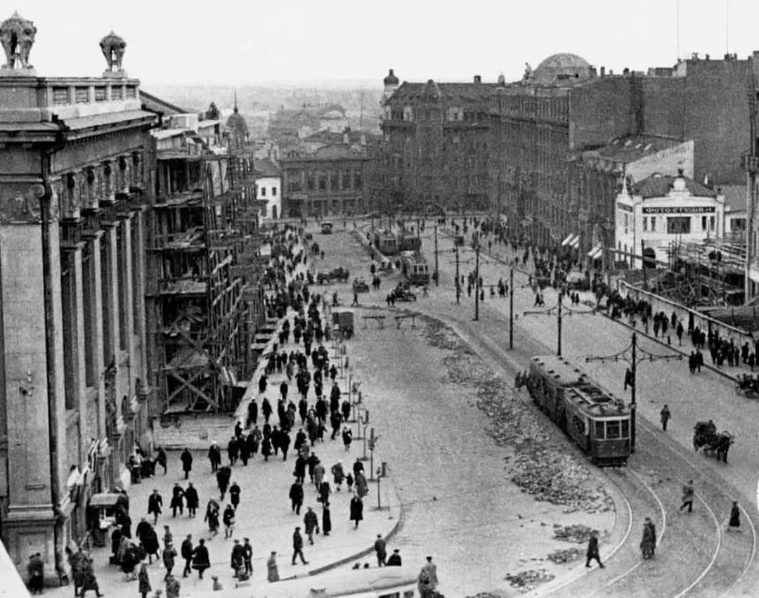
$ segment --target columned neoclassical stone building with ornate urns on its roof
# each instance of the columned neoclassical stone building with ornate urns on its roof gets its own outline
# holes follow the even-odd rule
[[[100,77],[40,77],[36,27],[0,24],[0,533],[65,575],[93,493],[146,433],[146,148],[156,115],[100,40]],[[93,46],[97,40],[93,39]],[[93,48],[94,50],[94,48]]]

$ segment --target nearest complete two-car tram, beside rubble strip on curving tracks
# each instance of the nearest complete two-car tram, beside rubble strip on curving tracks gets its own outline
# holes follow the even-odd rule
[[[584,370],[563,357],[533,357],[528,391],[538,408],[577,444],[594,464],[624,465],[630,455],[630,410]]]

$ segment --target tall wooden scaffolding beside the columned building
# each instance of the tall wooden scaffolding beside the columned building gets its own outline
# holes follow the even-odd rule
[[[252,375],[250,327],[263,291],[249,254],[254,196],[235,156],[157,155],[150,228],[149,327],[162,413],[234,411]]]

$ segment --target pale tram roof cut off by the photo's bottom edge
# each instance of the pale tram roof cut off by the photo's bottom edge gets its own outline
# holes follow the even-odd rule
[[[418,573],[405,567],[339,568],[274,584],[250,587],[241,584],[224,595],[234,594],[239,598],[420,598],[417,579]],[[209,592],[207,596],[200,593],[197,598],[217,598],[219,595],[219,592]]]

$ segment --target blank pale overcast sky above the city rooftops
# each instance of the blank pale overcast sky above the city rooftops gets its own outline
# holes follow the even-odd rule
[[[757,0],[679,0],[679,55],[759,49]],[[99,40],[128,43],[144,83],[515,80],[556,52],[615,72],[671,66],[678,0],[17,0],[37,27],[40,76],[102,73]],[[728,9],[729,7],[729,9]],[[727,27],[729,14],[729,28]],[[728,48],[729,43],[729,48]]]

